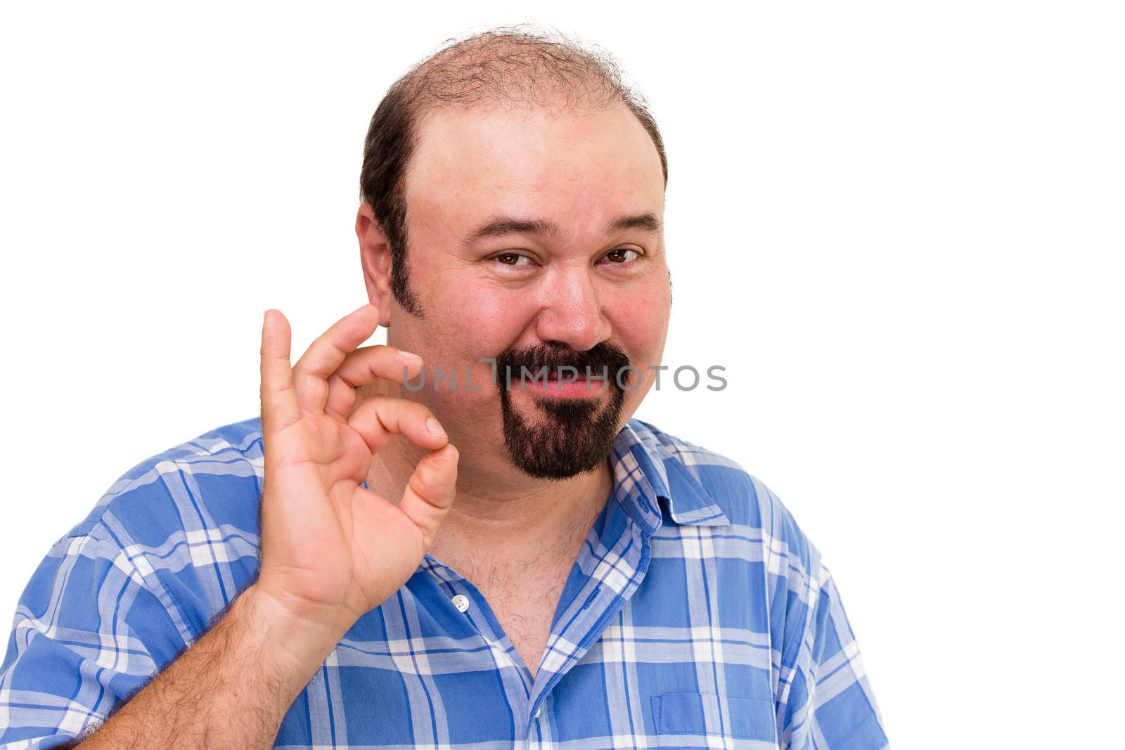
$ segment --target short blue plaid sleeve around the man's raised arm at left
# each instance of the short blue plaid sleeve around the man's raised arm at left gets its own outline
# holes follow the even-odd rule
[[[186,647],[128,548],[93,523],[39,563],[0,665],[0,748],[64,744]]]

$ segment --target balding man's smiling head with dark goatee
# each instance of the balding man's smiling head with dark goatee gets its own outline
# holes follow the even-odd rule
[[[410,397],[482,467],[564,479],[604,461],[667,335],[666,182],[642,100],[558,35],[459,42],[379,105],[356,226],[368,293],[388,343],[456,372]],[[566,395],[521,377],[543,365],[609,378]]]

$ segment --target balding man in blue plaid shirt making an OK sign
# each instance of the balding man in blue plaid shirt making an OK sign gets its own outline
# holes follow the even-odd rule
[[[137,464],[55,545],[3,747],[885,747],[778,499],[631,418],[666,181],[642,102],[565,38],[494,30],[395,83],[369,304],[295,365],[268,310],[261,421]]]

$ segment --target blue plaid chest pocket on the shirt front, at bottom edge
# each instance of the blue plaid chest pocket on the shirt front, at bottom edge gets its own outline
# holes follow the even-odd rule
[[[708,737],[762,740],[760,747],[772,748],[777,739],[773,701],[757,698],[720,698],[700,693],[654,695],[652,722],[662,748],[709,748]]]

